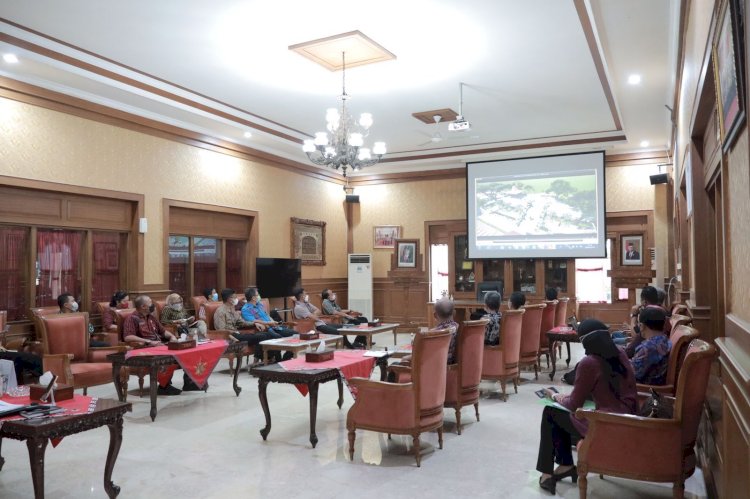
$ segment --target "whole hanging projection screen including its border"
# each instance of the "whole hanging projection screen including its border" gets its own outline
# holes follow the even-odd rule
[[[466,165],[469,258],[606,256],[604,152]]]

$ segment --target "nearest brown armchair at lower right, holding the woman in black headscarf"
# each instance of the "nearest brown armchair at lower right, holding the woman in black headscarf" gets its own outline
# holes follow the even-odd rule
[[[656,419],[578,409],[589,422],[578,448],[578,490],[586,499],[587,473],[650,482],[672,482],[672,497],[682,498],[685,480],[695,471],[698,423],[716,349],[693,340],[677,381],[673,419]]]

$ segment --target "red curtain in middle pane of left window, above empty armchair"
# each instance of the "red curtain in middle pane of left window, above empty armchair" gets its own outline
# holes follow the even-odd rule
[[[57,305],[57,296],[70,293],[81,299],[81,232],[37,231],[36,306]]]

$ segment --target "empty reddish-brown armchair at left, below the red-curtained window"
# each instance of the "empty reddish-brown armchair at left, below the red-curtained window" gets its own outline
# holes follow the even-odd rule
[[[107,355],[122,352],[127,347],[89,347],[89,314],[47,315],[40,319],[42,325],[43,365],[52,371],[60,382],[83,388],[112,382],[112,364]]]

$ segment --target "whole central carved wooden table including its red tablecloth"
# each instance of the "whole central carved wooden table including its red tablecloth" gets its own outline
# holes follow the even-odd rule
[[[315,421],[318,411],[318,386],[320,383],[336,380],[338,384],[339,409],[344,403],[343,385],[352,377],[369,378],[373,367],[380,367],[380,379],[385,380],[388,367],[388,354],[382,352],[379,357],[366,356],[364,350],[336,350],[334,358],[325,362],[307,362],[304,358],[287,360],[270,366],[254,367],[250,374],[258,378],[258,397],[266,417],[266,426],[260,430],[263,440],[271,432],[271,411],[268,406],[268,383],[290,383],[305,395],[310,395],[310,443],[318,443],[315,434]],[[348,383],[347,383],[347,386]],[[352,394],[354,396],[354,394]]]

